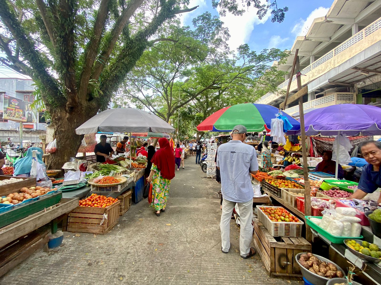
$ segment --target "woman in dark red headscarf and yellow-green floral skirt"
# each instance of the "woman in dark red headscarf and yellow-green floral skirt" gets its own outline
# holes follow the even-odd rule
[[[171,179],[174,177],[174,155],[168,139],[159,139],[160,149],[151,158],[151,172],[147,178],[152,183],[152,203],[155,214],[165,211]]]

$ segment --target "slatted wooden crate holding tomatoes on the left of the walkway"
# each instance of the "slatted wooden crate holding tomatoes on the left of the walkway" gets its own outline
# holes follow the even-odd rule
[[[78,206],[69,214],[67,231],[105,234],[118,223],[119,205],[120,201],[118,200],[106,208]],[[107,215],[107,219],[101,225],[103,214]]]

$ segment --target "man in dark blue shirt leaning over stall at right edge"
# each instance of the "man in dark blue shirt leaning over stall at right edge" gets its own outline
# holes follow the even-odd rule
[[[381,187],[381,142],[365,141],[359,147],[368,164],[363,166],[358,189],[349,199],[362,199]],[[378,197],[378,203],[381,203],[381,195]]]

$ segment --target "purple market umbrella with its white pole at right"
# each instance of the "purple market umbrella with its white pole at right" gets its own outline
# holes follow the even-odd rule
[[[304,115],[306,135],[381,135],[381,108],[371,105],[341,104],[319,108]],[[339,140],[337,149],[339,150]],[[336,155],[339,157],[339,154]],[[336,178],[339,159],[336,161]]]

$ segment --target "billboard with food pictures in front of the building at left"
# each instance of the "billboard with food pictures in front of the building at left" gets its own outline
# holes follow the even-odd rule
[[[37,123],[37,110],[32,109],[32,103],[3,95],[3,119],[15,122]]]

